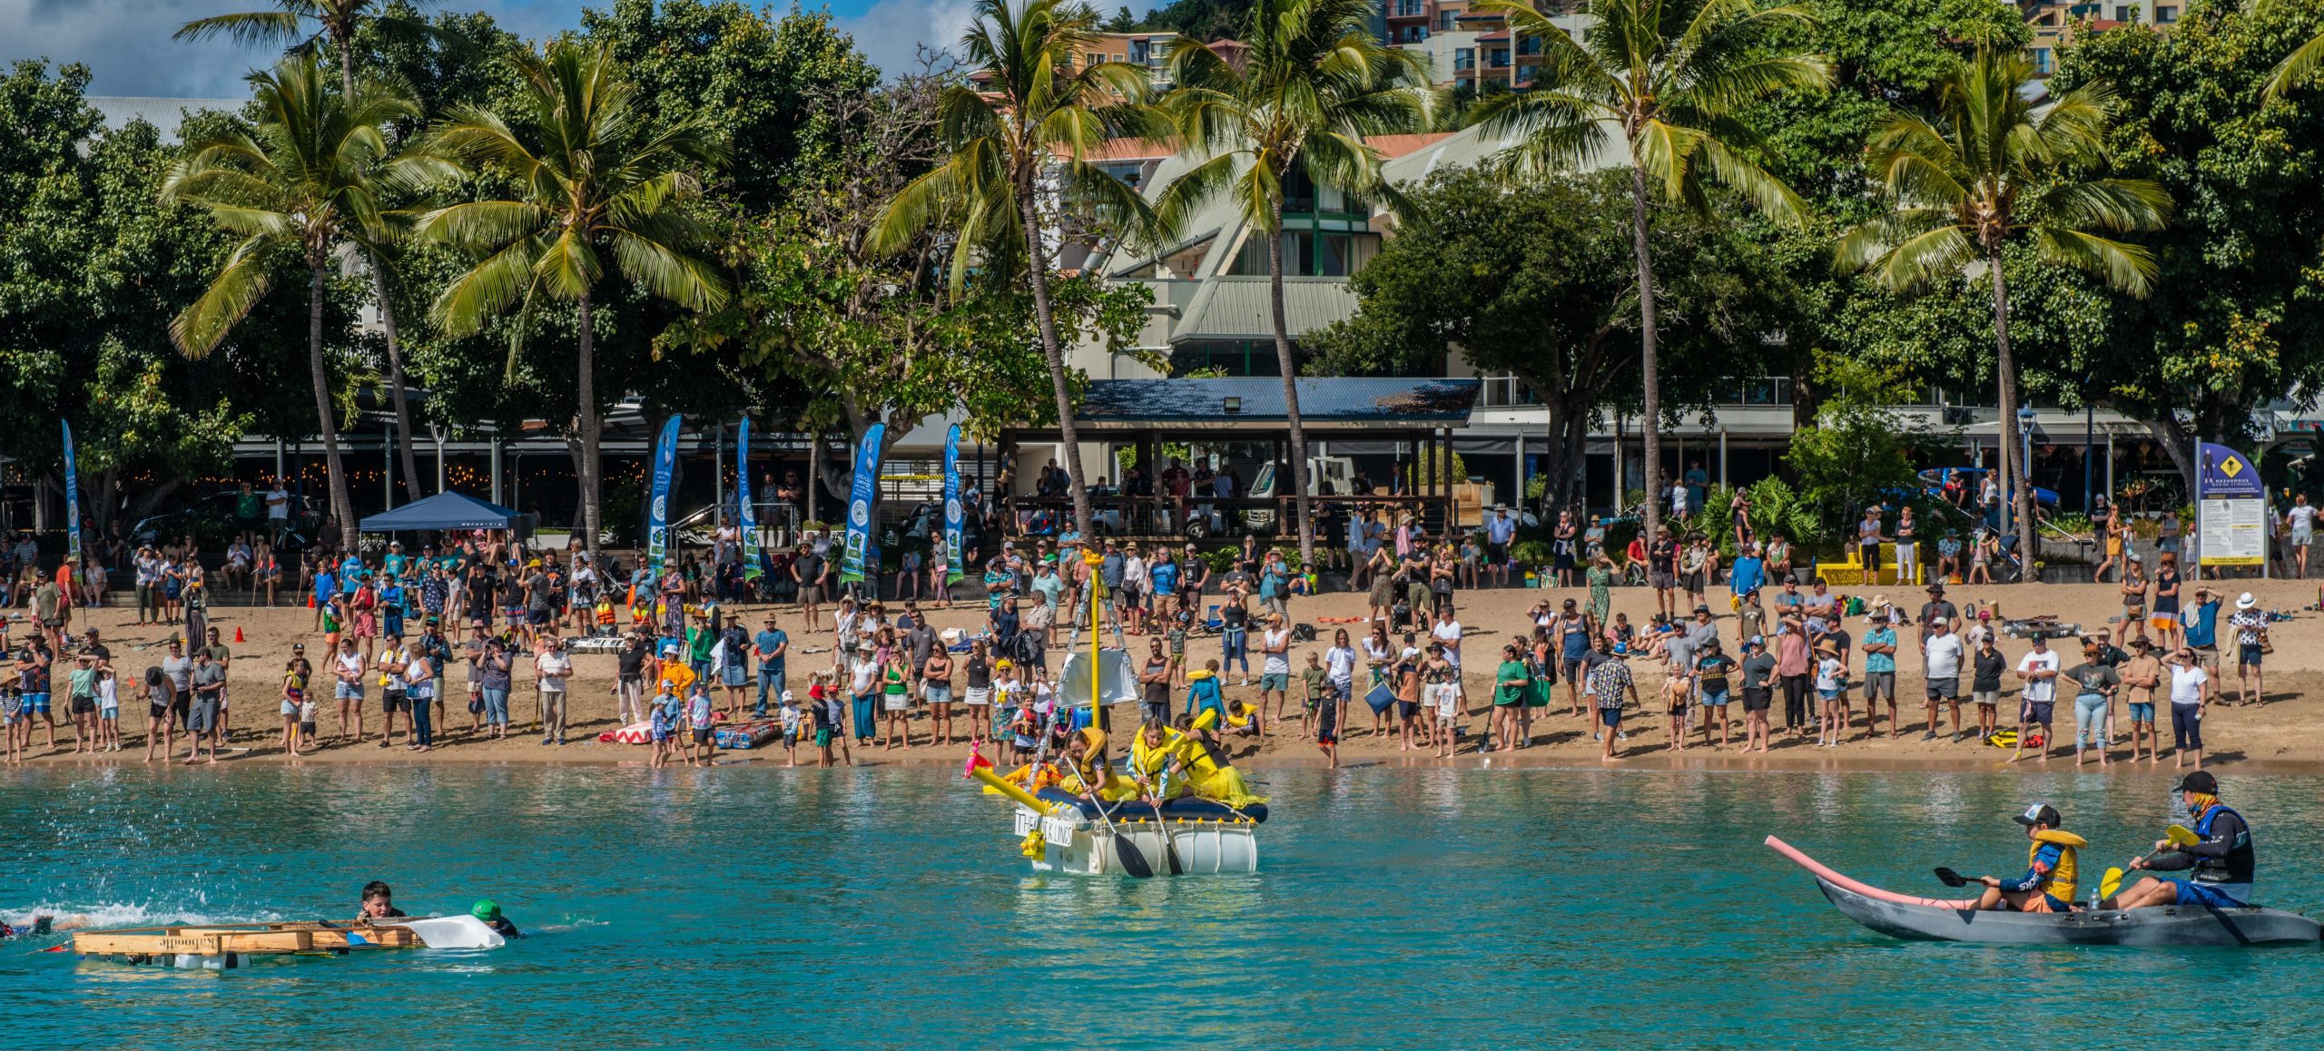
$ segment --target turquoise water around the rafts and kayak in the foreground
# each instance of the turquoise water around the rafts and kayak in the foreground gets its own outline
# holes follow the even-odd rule
[[[2119,865],[2159,777],[1264,772],[1255,877],[1034,874],[937,770],[251,767],[0,774],[0,916],[351,916],[497,898],[535,937],[179,972],[0,949],[5,1046],[2312,1046],[2317,951],[1987,949],[1848,923],[1859,879],[2015,874],[2047,798]],[[2324,909],[2319,779],[2229,777],[2261,898]],[[2096,879],[2094,874],[2089,879]],[[2231,991],[2233,995],[2224,995]],[[2080,1037],[2073,1037],[2073,1035]],[[2224,1032],[2217,1032],[2224,1037]],[[2224,1046],[2224,1044],[2222,1044]]]

